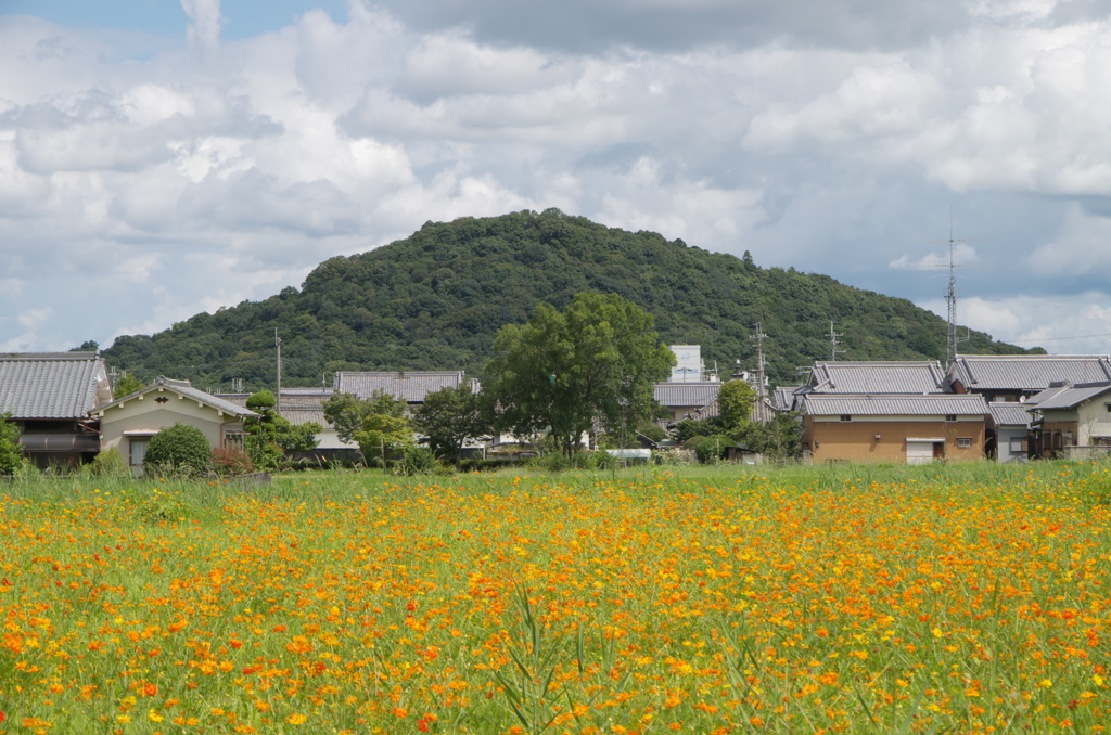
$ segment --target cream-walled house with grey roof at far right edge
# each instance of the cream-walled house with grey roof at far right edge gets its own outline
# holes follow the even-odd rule
[[[1033,415],[1038,456],[1085,457],[1111,452],[1111,381],[1054,383],[1024,407]]]

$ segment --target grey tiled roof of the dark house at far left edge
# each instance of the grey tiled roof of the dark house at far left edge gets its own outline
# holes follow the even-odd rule
[[[99,396],[98,396],[99,390]],[[111,400],[94,352],[0,354],[0,413],[13,419],[83,419]]]

